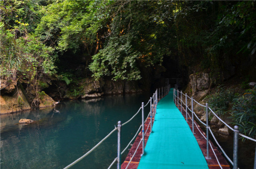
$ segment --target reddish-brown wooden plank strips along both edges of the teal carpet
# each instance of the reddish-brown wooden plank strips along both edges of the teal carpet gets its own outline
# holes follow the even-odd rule
[[[177,105],[176,105],[177,106]],[[179,110],[180,107],[179,107]],[[182,115],[184,118],[186,118],[186,111],[183,108],[182,110]],[[145,131],[147,129],[147,126],[150,122],[150,118],[147,118],[146,123],[144,125]],[[154,118],[152,118],[152,123],[154,124]],[[197,122],[195,122],[196,125],[198,126],[199,130],[204,134],[204,136],[206,136],[206,134],[204,133],[204,131],[200,128],[199,124]],[[190,126],[190,129],[192,131],[192,121],[190,119],[188,119],[188,125]],[[201,133],[199,132],[199,130],[196,128],[196,126],[194,126],[194,136],[196,137],[196,140],[198,142],[199,147],[201,148],[201,151],[203,152],[203,155],[206,156],[207,155],[207,151],[206,151],[206,140],[204,139],[204,137],[201,135]],[[148,131],[146,132],[145,135],[145,146],[147,143],[147,140],[149,138],[150,135],[150,127],[148,129]],[[134,152],[136,150],[136,148],[138,147],[139,142],[142,139],[142,131],[139,132],[138,136],[136,137],[128,155],[125,158],[125,161],[122,163],[121,165],[121,169],[125,169],[126,166],[128,165],[130,159],[132,158],[132,156],[134,155]],[[210,140],[211,142],[211,140]],[[222,156],[222,153],[220,153],[220,151],[214,146],[214,144],[211,142],[211,145],[214,149],[214,152],[217,156],[217,158],[219,159],[219,163],[222,166],[223,169],[230,169],[229,164],[227,163],[226,159],[224,158],[224,156]],[[139,166],[139,161],[141,159],[141,153],[142,153],[142,143],[139,146],[136,154],[134,155],[133,159],[131,160],[131,163],[128,166],[128,169],[137,169]],[[212,149],[209,145],[209,156],[211,157],[211,159],[206,159],[206,162],[208,164],[209,169],[220,169],[220,166],[214,156],[214,153],[212,152]]]

